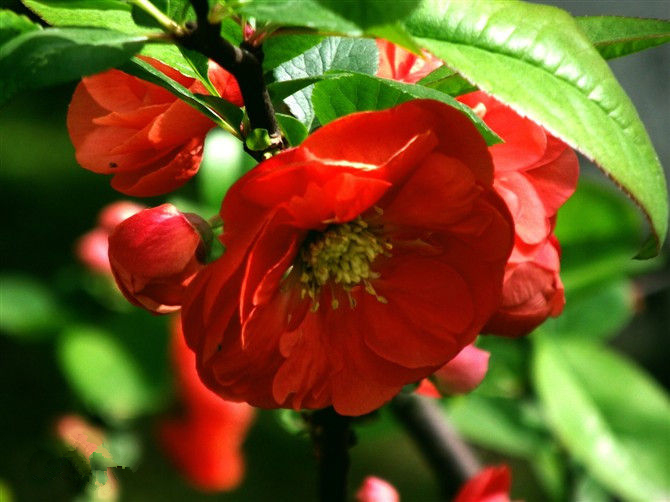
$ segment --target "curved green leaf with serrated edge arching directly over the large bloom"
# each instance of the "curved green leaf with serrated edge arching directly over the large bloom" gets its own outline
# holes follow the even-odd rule
[[[443,92],[421,85],[405,84],[360,73],[344,73],[340,78],[323,80],[314,86],[312,104],[319,122],[327,124],[338,117],[363,110],[384,110],[412,99],[434,99],[465,113],[489,145],[500,138],[468,106]]]

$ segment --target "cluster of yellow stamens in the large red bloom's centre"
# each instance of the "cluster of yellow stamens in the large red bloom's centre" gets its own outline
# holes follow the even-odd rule
[[[349,291],[363,283],[368,293],[385,302],[370,284],[370,279],[379,277],[370,267],[380,254],[389,255],[390,249],[391,244],[376,235],[360,216],[348,223],[332,225],[325,232],[314,233],[299,254],[302,296],[309,295],[316,300],[321,287],[332,282],[344,288],[353,307],[355,302]],[[338,307],[336,298],[332,307]],[[319,308],[318,301],[313,308]]]

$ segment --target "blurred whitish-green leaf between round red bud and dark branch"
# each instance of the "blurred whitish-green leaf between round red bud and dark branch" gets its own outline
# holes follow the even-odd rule
[[[196,177],[202,201],[218,211],[228,189],[255,164],[241,141],[221,129],[213,129],[205,140]]]

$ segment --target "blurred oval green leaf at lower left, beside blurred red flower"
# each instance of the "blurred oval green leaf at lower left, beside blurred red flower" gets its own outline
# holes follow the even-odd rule
[[[62,371],[93,412],[124,420],[154,408],[156,399],[141,368],[112,335],[97,328],[75,327],[59,341]]]

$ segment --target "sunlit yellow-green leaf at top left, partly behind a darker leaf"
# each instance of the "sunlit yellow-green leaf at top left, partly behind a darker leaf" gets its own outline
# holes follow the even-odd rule
[[[100,27],[135,35],[161,32],[157,28],[138,26],[133,20],[130,4],[120,0],[23,0],[23,3],[54,26]],[[198,77],[176,45],[147,43],[141,54],[158,59],[184,75]]]

